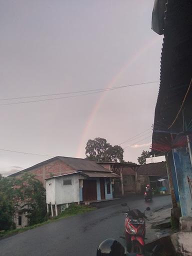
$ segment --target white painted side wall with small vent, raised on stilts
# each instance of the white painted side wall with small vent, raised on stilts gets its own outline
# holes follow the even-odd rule
[[[79,178],[82,177],[72,174],[46,180],[46,202],[52,204],[79,202]],[[71,179],[72,184],[63,185],[63,180],[68,179]]]

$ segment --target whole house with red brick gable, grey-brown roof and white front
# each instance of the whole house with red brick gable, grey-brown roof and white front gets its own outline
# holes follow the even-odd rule
[[[47,159],[15,172],[9,177],[19,178],[25,172],[34,174],[43,183],[47,190],[47,209],[50,208],[49,204],[54,205],[51,208],[52,214],[58,211],[57,201],[61,205],[70,202],[111,199],[113,197],[112,179],[119,178],[118,174],[95,161],[64,156]],[[56,193],[56,191],[59,192]],[[73,193],[74,191],[76,192]]]

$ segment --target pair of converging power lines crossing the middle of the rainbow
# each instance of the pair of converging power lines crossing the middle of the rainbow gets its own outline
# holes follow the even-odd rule
[[[150,83],[155,83],[155,82],[158,82],[158,81],[142,82],[142,83],[135,83],[135,84],[128,84],[128,85],[121,85],[121,86],[116,86],[116,87],[111,87],[111,88],[102,88],[102,89],[93,89],[93,90],[84,90],[84,91],[62,92],[62,93],[54,93],[54,94],[42,94],[42,95],[36,95],[36,96],[25,96],[25,97],[15,97],[15,98],[2,98],[0,100],[21,99],[21,98],[40,97],[40,96],[48,96],[48,95],[72,94],[72,93],[80,93],[80,92],[88,92],[88,91],[90,91],[89,93],[83,93],[83,94],[77,94],[77,95],[71,95],[71,96],[65,96],[65,97],[36,99],[36,100],[19,101],[19,102],[9,102],[9,103],[2,103],[0,105],[12,105],[12,104],[21,104],[21,103],[31,103],[31,102],[55,100],[55,99],[62,99],[62,98],[72,98],[72,97],[90,95],[90,94],[94,94],[94,93],[100,93],[100,92],[104,92],[104,91],[115,90],[115,89],[119,89],[119,88],[126,88],[126,87],[150,84]]]

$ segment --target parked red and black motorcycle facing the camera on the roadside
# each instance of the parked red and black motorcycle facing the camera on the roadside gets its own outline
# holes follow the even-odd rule
[[[127,206],[126,203],[122,203],[122,206]],[[128,206],[127,206],[128,207]],[[146,210],[150,210],[149,207]],[[123,211],[124,212],[124,211]],[[145,212],[145,211],[144,211]],[[144,255],[144,237],[145,237],[145,214],[138,209],[132,209],[128,207],[125,211],[125,240],[127,251],[134,252],[139,255]]]

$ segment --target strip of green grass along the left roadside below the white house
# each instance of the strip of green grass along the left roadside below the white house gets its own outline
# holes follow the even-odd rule
[[[25,226],[25,227],[12,229],[12,230],[0,231],[0,238],[5,238],[7,236],[17,234],[17,233],[21,233],[21,232],[33,229],[35,227],[38,227],[38,226],[48,224],[48,223],[51,223],[53,221],[62,219],[62,218],[66,218],[66,217],[69,217],[69,216],[74,216],[74,215],[77,215],[77,214],[82,214],[82,213],[85,213],[85,212],[88,212],[88,211],[92,211],[94,209],[96,209],[96,207],[91,207],[91,206],[88,206],[88,205],[85,206],[85,205],[71,204],[71,205],[69,205],[68,208],[66,208],[58,216],[53,217],[51,219],[48,219],[44,222],[41,222],[41,223],[38,223],[38,224],[35,224],[35,225],[32,225],[32,226]]]

